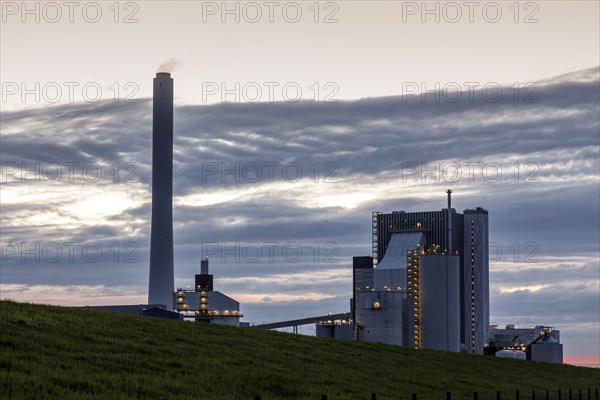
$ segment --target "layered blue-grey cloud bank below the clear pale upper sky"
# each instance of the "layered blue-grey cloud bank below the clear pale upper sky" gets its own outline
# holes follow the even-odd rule
[[[371,212],[438,210],[451,188],[459,211],[490,212],[492,319],[598,354],[599,83],[593,68],[518,98],[176,104],[176,283],[209,255],[247,320],[345,311]],[[151,106],[2,113],[2,297],[143,302]]]

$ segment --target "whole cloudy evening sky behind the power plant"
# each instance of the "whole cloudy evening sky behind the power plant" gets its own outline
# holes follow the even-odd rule
[[[208,255],[246,321],[346,311],[371,212],[451,188],[492,321],[600,363],[597,2],[1,4],[2,298],[146,301],[168,70],[177,286]]]

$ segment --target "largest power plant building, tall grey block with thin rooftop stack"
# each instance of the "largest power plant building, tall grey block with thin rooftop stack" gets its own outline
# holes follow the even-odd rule
[[[488,212],[372,214],[372,257],[353,260],[358,340],[483,354],[489,325]]]

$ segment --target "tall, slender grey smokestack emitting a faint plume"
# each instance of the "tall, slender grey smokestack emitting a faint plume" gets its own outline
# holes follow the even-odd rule
[[[173,79],[154,78],[152,107],[152,229],[148,303],[173,310]]]

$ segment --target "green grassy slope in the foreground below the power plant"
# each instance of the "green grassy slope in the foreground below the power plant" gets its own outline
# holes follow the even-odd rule
[[[599,386],[600,370],[569,365],[0,302],[0,399],[485,399],[500,390],[508,400],[519,389],[529,400],[532,390]]]

